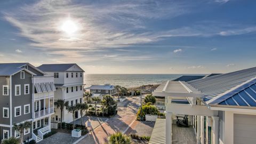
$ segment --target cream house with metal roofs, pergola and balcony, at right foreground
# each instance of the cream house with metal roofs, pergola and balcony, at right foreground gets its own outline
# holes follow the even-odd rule
[[[188,82],[165,81],[153,95],[165,98],[166,119],[157,119],[151,144],[256,141],[256,67]],[[180,116],[188,118],[189,127],[177,126]]]

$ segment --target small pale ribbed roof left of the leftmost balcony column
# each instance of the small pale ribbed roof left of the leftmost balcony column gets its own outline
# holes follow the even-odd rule
[[[149,144],[165,144],[165,119],[156,119]]]

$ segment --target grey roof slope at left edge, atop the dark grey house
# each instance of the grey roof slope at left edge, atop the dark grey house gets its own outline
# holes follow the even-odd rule
[[[0,63],[0,76],[10,76],[25,68],[20,68],[28,63]]]

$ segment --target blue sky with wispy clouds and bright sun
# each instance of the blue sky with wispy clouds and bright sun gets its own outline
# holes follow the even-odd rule
[[[209,74],[256,66],[256,1],[0,1],[0,61],[86,74]]]

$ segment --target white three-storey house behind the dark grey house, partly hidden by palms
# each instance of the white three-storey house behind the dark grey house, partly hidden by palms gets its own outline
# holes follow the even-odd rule
[[[76,63],[65,64],[44,64],[38,67],[47,75],[54,77],[54,100],[65,100],[69,105],[74,106],[76,103],[83,102],[84,89],[84,70]],[[52,121],[60,122],[61,111],[55,108],[55,113],[52,115]],[[76,111],[75,118],[80,118],[80,111]],[[63,110],[63,122],[73,122],[73,116],[68,113],[68,110]]]

